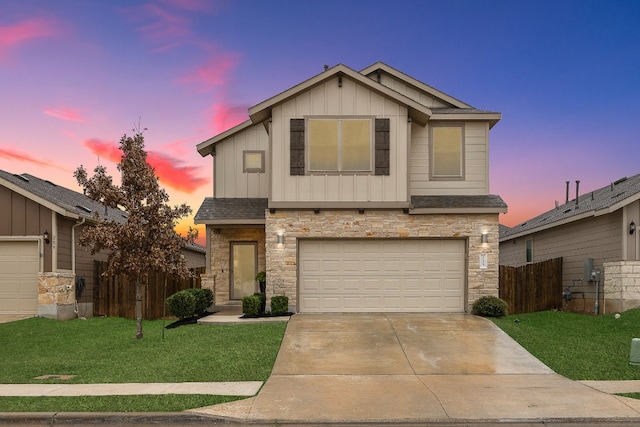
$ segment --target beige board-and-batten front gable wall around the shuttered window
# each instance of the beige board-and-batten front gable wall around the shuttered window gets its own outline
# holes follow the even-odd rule
[[[390,175],[290,174],[290,121],[306,116],[390,119]],[[272,202],[408,202],[408,111],[348,78],[330,79],[272,110]],[[373,164],[372,164],[373,167]],[[365,205],[363,205],[364,207]]]

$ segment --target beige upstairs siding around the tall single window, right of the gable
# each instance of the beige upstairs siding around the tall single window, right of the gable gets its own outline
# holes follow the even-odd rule
[[[464,179],[430,180],[430,125],[411,127],[411,194],[414,196],[489,194],[489,124],[464,123]]]

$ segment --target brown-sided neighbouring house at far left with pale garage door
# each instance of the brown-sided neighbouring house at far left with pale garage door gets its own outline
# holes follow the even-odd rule
[[[51,181],[0,170],[0,316],[93,315],[94,261],[107,256],[91,255],[78,239],[94,212],[127,218]],[[204,266],[203,252],[197,245],[183,249],[192,268]]]

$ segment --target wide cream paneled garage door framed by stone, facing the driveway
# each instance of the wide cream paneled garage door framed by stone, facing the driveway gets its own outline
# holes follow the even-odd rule
[[[300,240],[299,311],[463,312],[463,240]]]

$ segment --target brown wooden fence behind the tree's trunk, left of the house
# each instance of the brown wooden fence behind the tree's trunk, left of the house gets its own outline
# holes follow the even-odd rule
[[[94,262],[94,315],[135,319],[135,283],[129,283],[124,276],[105,276],[103,273],[106,268],[105,262]],[[142,318],[153,320],[168,316],[165,307],[166,297],[183,289],[200,288],[200,275],[205,273],[205,268],[191,269],[191,271],[194,277],[188,279],[175,279],[162,273],[150,274],[147,284],[143,287]]]

